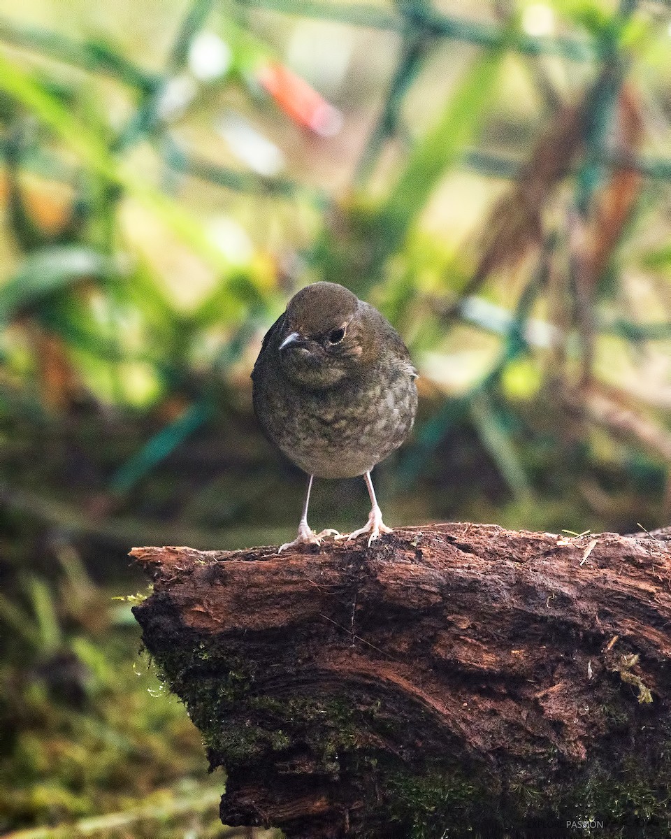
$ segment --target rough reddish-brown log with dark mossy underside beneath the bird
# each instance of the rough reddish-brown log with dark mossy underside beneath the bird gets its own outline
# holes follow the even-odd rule
[[[226,769],[226,824],[668,836],[666,538],[440,524],[282,555],[138,548],[153,594],[133,611]]]

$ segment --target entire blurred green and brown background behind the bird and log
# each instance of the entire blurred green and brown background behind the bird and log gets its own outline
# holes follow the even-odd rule
[[[233,835],[127,551],[294,537],[249,373],[306,283],[419,368],[388,524],[671,523],[669,56],[663,0],[0,0],[0,831]]]

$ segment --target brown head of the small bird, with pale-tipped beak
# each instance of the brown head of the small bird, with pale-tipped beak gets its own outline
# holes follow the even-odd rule
[[[332,388],[356,375],[372,352],[363,305],[336,283],[313,283],[294,294],[284,315],[280,364],[306,388]]]

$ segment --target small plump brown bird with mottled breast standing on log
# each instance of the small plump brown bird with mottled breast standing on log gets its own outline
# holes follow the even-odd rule
[[[316,282],[300,289],[270,327],[252,371],[252,401],[268,439],[309,476],[296,539],[326,536],[368,545],[392,533],[382,521],[371,472],[401,446],[417,411],[418,377],[408,348],[388,320],[345,286]],[[363,476],[371,499],[367,524],[350,534],[308,524],[315,477]]]

